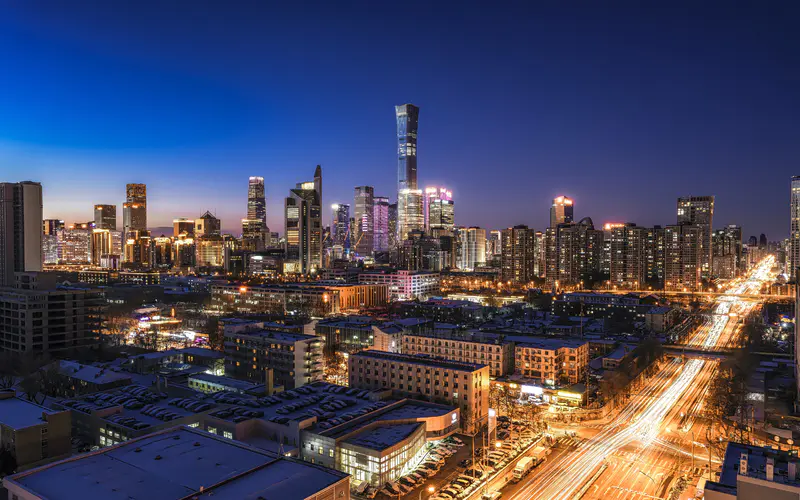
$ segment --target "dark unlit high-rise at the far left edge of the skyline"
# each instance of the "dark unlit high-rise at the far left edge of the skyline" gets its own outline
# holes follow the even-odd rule
[[[42,270],[42,185],[0,183],[0,286],[14,273]]]

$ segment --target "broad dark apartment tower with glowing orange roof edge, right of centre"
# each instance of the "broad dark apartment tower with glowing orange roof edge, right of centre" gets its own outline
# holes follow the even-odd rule
[[[603,229],[609,240],[611,284],[638,290],[644,285],[647,269],[647,229],[630,222],[606,224]]]

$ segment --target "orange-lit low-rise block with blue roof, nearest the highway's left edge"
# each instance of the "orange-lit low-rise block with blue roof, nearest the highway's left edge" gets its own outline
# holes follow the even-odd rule
[[[516,373],[548,386],[583,381],[589,364],[589,342],[579,339],[519,337]]]

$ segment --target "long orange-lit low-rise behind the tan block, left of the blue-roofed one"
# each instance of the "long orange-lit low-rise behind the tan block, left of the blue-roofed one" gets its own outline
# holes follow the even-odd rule
[[[502,336],[463,331],[452,331],[448,334],[406,334],[402,352],[484,364],[489,366],[492,377],[502,377],[514,372],[514,343],[503,340]]]

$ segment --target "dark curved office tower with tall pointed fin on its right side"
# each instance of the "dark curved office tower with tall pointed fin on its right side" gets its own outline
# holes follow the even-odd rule
[[[284,200],[286,260],[289,273],[314,274],[322,267],[322,167],[314,180],[300,182]]]

